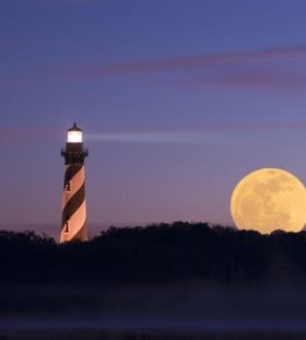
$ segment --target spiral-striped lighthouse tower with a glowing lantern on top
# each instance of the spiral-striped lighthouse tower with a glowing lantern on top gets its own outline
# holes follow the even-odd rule
[[[67,131],[62,220],[60,243],[87,241],[84,160],[89,155],[83,145],[83,131],[74,122]]]

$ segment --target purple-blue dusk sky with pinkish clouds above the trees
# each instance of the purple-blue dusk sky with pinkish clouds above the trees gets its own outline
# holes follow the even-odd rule
[[[306,181],[304,0],[1,0],[0,228],[60,227],[66,130],[85,133],[91,233],[232,224],[259,167]]]

